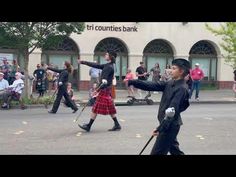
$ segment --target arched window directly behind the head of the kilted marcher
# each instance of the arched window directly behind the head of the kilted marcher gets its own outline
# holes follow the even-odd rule
[[[125,44],[116,38],[105,38],[101,40],[94,50],[94,60],[98,63],[106,63],[104,54],[107,50],[114,50],[117,53],[115,76],[117,80],[117,88],[125,88],[123,79],[125,78],[128,67],[128,50]]]

